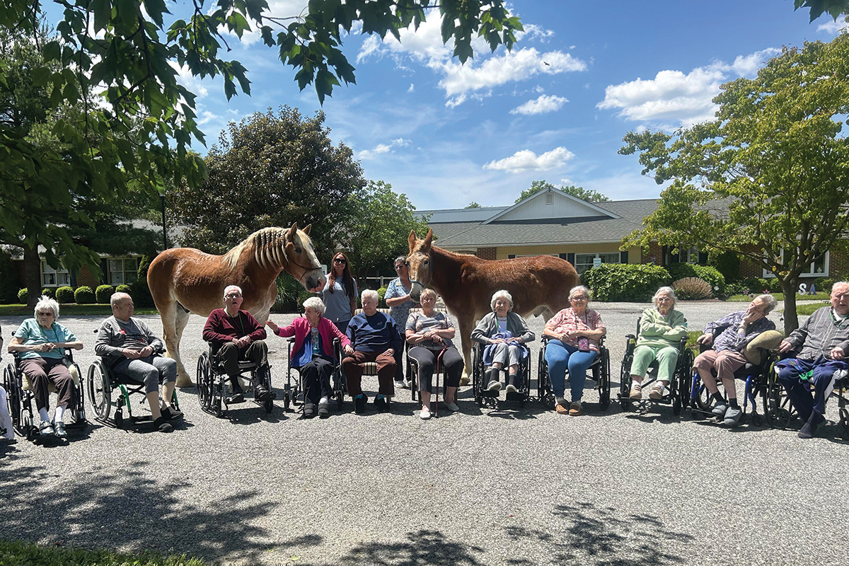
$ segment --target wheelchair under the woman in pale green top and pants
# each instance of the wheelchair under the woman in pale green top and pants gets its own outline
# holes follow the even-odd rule
[[[637,348],[637,335],[639,334],[639,321],[637,319],[637,333],[627,334],[625,345],[625,356],[622,358],[622,368],[619,378],[619,402],[622,410],[629,409],[633,403],[638,402],[631,399],[631,365],[634,360],[634,350]],[[687,337],[684,337],[678,343],[678,361],[675,365],[675,371],[669,378],[669,385],[666,388],[666,394],[661,399],[648,399],[651,403],[661,405],[672,405],[672,414],[678,417],[684,406],[687,406],[690,398],[691,373],[693,368],[693,350],[687,347]],[[650,384],[657,381],[657,360],[653,360],[646,370],[643,378],[643,388],[645,389]],[[646,400],[644,400],[646,401]]]

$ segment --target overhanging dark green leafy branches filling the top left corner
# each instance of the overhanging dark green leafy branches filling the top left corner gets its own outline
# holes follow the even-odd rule
[[[52,5],[51,5],[52,4]],[[258,31],[262,41],[295,69],[303,89],[313,84],[318,99],[340,81],[355,81],[341,52],[342,38],[355,23],[381,37],[418,27],[436,8],[425,0],[311,1],[292,17],[274,17],[266,0],[6,0],[0,28],[35,37],[43,63],[28,71],[33,85],[48,93],[46,109],[82,104],[84,120],[56,113],[58,147],[43,148],[14,127],[0,124],[0,227],[24,235],[32,249],[51,244],[66,266],[96,265],[93,253],[74,244],[63,226],[51,221],[54,207],[79,221],[76,198],[110,199],[124,188],[151,194],[165,187],[196,188],[205,175],[200,156],[189,149],[204,141],[195,115],[194,93],[177,81],[183,66],[193,76],[222,76],[224,92],[250,94],[246,69],[224,59],[226,34],[239,39]],[[172,16],[171,11],[186,17]],[[60,13],[59,36],[42,38],[42,20]],[[472,56],[472,34],[495,49],[511,48],[520,21],[504,0],[447,0],[439,4],[443,42],[452,40],[462,62]],[[8,65],[0,63],[0,89],[8,89]],[[131,135],[132,133],[132,135]],[[46,207],[46,208],[43,208]]]

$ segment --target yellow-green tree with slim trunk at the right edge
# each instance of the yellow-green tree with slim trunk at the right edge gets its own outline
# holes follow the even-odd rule
[[[800,273],[849,224],[846,76],[844,33],[784,48],[755,79],[722,85],[716,120],[672,136],[628,133],[620,153],[638,153],[644,174],[672,183],[624,247],[655,239],[748,258],[779,278],[784,330],[796,328]]]

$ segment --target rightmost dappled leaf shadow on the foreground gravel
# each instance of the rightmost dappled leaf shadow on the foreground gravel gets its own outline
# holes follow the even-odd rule
[[[596,564],[602,566],[657,566],[684,563],[669,546],[683,546],[693,537],[666,527],[660,518],[647,514],[620,514],[614,507],[589,502],[554,507],[562,519],[556,533],[510,526],[507,535],[520,542],[530,539],[543,546],[548,563]],[[510,564],[532,564],[534,560],[513,558]]]

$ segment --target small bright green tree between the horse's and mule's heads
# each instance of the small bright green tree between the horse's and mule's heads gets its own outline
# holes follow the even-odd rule
[[[351,258],[357,277],[382,272],[398,255],[408,254],[410,230],[427,232],[430,216],[415,213],[406,194],[392,191],[383,181],[369,181],[350,200],[351,219],[340,238],[342,249]]]

